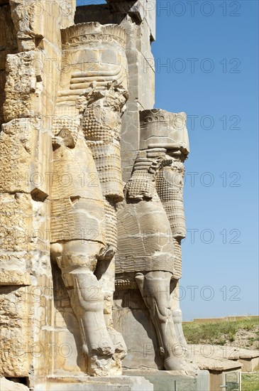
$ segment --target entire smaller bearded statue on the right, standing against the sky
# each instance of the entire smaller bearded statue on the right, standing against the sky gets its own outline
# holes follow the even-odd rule
[[[183,162],[188,153],[184,113],[140,112],[140,150],[117,213],[117,284],[127,288],[137,282],[167,370],[188,366],[177,300],[185,237]]]

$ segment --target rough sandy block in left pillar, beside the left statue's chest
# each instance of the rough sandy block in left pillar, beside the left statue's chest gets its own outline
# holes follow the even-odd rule
[[[37,119],[12,119],[0,134],[1,193],[31,193],[35,200],[48,197],[51,173],[43,161],[50,152],[47,133],[38,129]]]

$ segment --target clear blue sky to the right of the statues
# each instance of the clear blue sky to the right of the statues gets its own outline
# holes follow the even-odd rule
[[[155,107],[189,116],[184,320],[258,314],[258,1],[158,1],[153,54]]]

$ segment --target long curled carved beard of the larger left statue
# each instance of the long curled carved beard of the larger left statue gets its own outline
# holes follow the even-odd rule
[[[100,99],[98,94],[102,94]],[[121,93],[114,90],[104,89],[98,94],[97,101],[92,100],[84,111],[82,130],[97,166],[104,197],[121,201],[121,112],[116,110],[125,99]]]

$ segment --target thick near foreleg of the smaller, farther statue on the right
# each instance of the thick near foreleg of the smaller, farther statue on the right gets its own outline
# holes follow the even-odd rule
[[[178,341],[175,325],[172,320],[172,302],[170,297],[170,272],[148,272],[136,274],[140,292],[148,307],[155,325],[160,344],[160,352],[164,355],[166,370],[185,370],[182,346]]]

